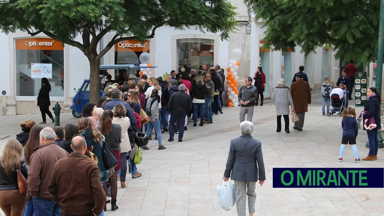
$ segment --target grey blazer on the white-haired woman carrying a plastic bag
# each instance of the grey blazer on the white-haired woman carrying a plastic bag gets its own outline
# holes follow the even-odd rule
[[[246,134],[232,139],[224,177],[235,181],[265,181],[262,143]]]

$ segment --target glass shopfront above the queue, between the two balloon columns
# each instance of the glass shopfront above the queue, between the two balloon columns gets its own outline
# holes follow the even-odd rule
[[[206,64],[208,69],[214,67],[214,40],[187,38],[176,40],[177,69],[179,73],[191,69],[202,69]]]

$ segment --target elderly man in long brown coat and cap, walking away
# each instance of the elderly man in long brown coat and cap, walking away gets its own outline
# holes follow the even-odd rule
[[[295,112],[299,121],[295,122],[293,129],[303,130],[305,113],[308,112],[308,104],[311,104],[311,87],[308,82],[303,81],[302,74],[296,74],[296,82],[291,84],[291,96]]]

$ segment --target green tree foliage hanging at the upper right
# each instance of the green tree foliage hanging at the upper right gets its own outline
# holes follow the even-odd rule
[[[265,23],[265,47],[308,54],[331,46],[335,57],[376,61],[379,0],[246,0]]]

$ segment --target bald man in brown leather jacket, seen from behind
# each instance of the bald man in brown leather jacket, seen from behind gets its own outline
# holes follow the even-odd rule
[[[59,160],[53,170],[49,191],[61,206],[61,216],[94,216],[104,213],[106,194],[99,168],[85,152],[83,136],[73,137],[69,157]]]

